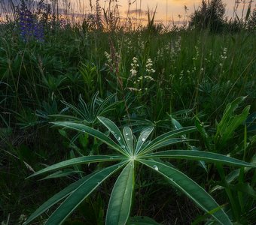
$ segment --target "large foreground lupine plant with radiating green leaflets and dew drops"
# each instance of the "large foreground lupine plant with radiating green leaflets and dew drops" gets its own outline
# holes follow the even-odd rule
[[[29,218],[26,223],[30,223],[36,217],[47,211],[51,206],[62,201],[59,207],[53,211],[53,214],[47,219],[45,224],[61,224],[66,220],[69,214],[78,207],[78,205],[99,187],[103,181],[120,172],[108,203],[107,214],[105,217],[106,224],[126,224],[130,218],[130,211],[133,202],[133,193],[135,191],[136,173],[140,165],[152,169],[156,174],[162,175],[169,181],[169,184],[178,188],[194,201],[203,211],[212,215],[218,223],[228,225],[232,224],[223,208],[215,202],[215,199],[209,195],[199,184],[187,177],[183,172],[163,161],[166,159],[185,159],[185,160],[204,160],[209,163],[227,164],[239,167],[254,167],[250,163],[227,157],[221,154],[215,154],[206,151],[190,150],[166,150],[157,151],[168,145],[187,142],[189,139],[184,137],[185,134],[194,132],[196,127],[181,127],[176,130],[163,133],[155,139],[150,140],[153,127],[147,127],[140,133],[138,139],[133,135],[130,127],[123,127],[123,132],[114,124],[113,121],[105,117],[98,117],[99,121],[108,128],[108,132],[114,137],[102,133],[99,130],[88,127],[84,124],[78,124],[70,121],[53,122],[57,126],[71,128],[82,133],[88,133],[91,136],[104,142],[114,151],[114,154],[97,154],[90,156],[76,157],[71,160],[65,160],[41,169],[30,175],[42,175],[46,172],[53,172],[56,169],[63,169],[68,166],[75,166],[83,163],[101,163],[117,162],[111,166],[99,169],[89,175],[75,181],[65,189],[56,193],[53,197],[44,202]]]

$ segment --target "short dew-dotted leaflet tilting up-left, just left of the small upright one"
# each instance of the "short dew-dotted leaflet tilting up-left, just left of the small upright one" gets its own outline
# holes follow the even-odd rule
[[[126,149],[125,140],[123,139],[123,135],[122,135],[121,131],[119,130],[119,128],[117,127],[117,125],[114,124],[114,122],[111,121],[110,119],[102,117],[102,116],[98,116],[98,119],[114,135],[114,138],[117,139],[117,142],[119,142],[120,145],[123,146],[124,149]],[[126,149],[126,151],[129,151],[129,150]]]

